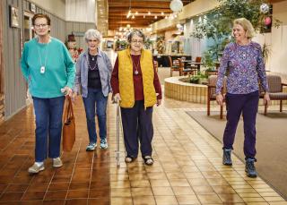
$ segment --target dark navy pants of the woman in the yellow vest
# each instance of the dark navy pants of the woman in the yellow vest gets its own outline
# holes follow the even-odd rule
[[[142,156],[152,156],[152,107],[144,110],[143,100],[136,100],[134,107],[120,110],[126,154],[136,158],[140,141]]]

